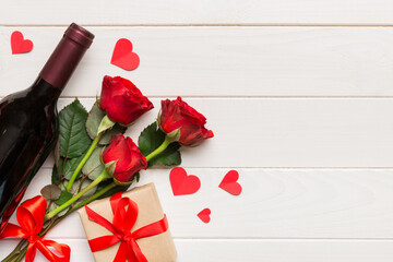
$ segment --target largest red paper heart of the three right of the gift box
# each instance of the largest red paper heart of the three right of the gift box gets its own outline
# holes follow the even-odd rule
[[[200,179],[193,175],[188,176],[182,167],[171,169],[169,180],[174,195],[192,194],[201,187]]]

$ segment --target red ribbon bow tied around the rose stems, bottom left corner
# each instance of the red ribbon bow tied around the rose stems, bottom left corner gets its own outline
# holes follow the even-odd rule
[[[27,239],[29,245],[26,252],[26,262],[34,261],[37,249],[51,262],[68,262],[70,261],[71,253],[69,246],[52,240],[45,240],[43,239],[44,237],[38,236],[43,229],[46,207],[46,200],[41,195],[37,195],[21,204],[16,210],[16,218],[21,226],[8,224],[0,235],[0,239],[7,237]],[[62,258],[52,253],[48,247],[57,250]]]

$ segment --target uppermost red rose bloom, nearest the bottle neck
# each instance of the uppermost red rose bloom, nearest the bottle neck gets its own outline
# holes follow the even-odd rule
[[[108,75],[104,76],[99,106],[110,120],[124,126],[153,108],[153,104],[131,81]]]

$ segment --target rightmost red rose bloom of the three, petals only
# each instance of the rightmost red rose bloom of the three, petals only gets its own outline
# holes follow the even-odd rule
[[[183,145],[198,145],[214,136],[213,131],[204,127],[206,118],[181,100],[180,96],[176,100],[162,100],[158,122],[166,133],[180,129],[178,141]]]

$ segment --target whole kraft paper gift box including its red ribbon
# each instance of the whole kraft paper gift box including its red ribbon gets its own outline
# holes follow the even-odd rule
[[[114,195],[114,196],[116,196],[116,195]],[[94,213],[98,214],[98,216],[102,216],[103,218],[107,219],[107,222],[116,224],[116,222],[114,221],[114,216],[115,216],[114,213],[116,213],[116,209],[114,209],[114,203],[115,203],[114,196],[94,201],[91,204],[88,204],[87,207],[82,207],[79,211],[79,214],[80,214],[84,230],[86,233],[87,239],[90,241],[90,246],[92,248],[95,261],[96,262],[114,261],[115,258],[117,255],[119,255],[118,252],[120,249],[120,245],[123,245],[127,248],[122,247],[123,248],[122,252],[131,252],[130,249],[135,250],[135,249],[140,248],[140,251],[143,253],[143,255],[145,257],[145,259],[148,262],[175,262],[177,254],[176,254],[175,243],[171,238],[169,228],[167,228],[167,229],[165,228],[164,230],[153,229],[153,231],[155,230],[155,233],[153,233],[153,234],[150,233],[152,236],[148,236],[148,237],[142,236],[141,238],[135,238],[134,242],[136,242],[138,247],[132,246],[132,242],[133,242],[132,240],[129,243],[124,243],[126,240],[129,241],[129,237],[120,236],[121,239],[126,239],[126,240],[120,240],[117,243],[115,243],[108,248],[102,249],[99,251],[94,251],[94,247],[93,247],[94,245],[92,245],[92,241],[97,241],[97,238],[100,238],[104,240],[107,240],[106,238],[117,239],[115,237],[115,235],[117,235],[116,230],[114,230],[114,229],[109,230],[110,225],[109,226],[106,225],[106,227],[105,227],[105,226],[103,226],[103,225],[105,225],[104,222],[102,223],[103,225],[100,225],[95,222],[96,219],[92,219],[92,215],[91,215],[91,211],[93,211]],[[120,193],[118,196],[120,196]],[[145,184],[142,187],[134,188],[131,191],[123,192],[121,194],[121,198],[127,198],[127,200],[131,200],[130,205],[133,205],[133,203],[138,205],[136,214],[134,214],[134,215],[136,215],[136,219],[135,219],[134,224],[130,225],[130,223],[132,224],[133,218],[132,219],[127,218],[127,219],[124,219],[124,222],[121,222],[124,224],[126,227],[132,226],[132,228],[130,230],[131,238],[133,237],[132,234],[134,234],[134,233],[135,233],[135,235],[141,235],[141,234],[139,234],[139,231],[142,231],[142,235],[145,235],[145,233],[143,233],[143,231],[146,231],[146,230],[143,229],[143,227],[145,227],[145,228],[148,227],[147,229],[150,231],[152,231],[152,228],[154,226],[157,226],[158,223],[160,225],[164,225],[166,223],[166,216],[164,215],[162,205],[158,200],[156,189],[153,183],[148,183],[148,184]],[[118,201],[116,203],[121,204],[120,202],[123,202],[123,200]],[[130,209],[129,205],[124,205],[124,206]],[[124,211],[127,211],[127,207],[124,207]],[[123,218],[126,216],[124,212],[122,212],[122,213],[120,212],[117,214],[118,214],[117,217]],[[116,221],[118,223],[118,219],[116,219]],[[153,224],[155,224],[155,225],[153,225]],[[153,227],[151,225],[153,225]],[[107,228],[109,228],[109,229],[107,229]],[[140,228],[142,228],[142,229],[139,230]],[[109,237],[109,236],[111,236],[111,237]],[[100,239],[98,239],[98,240],[100,240]],[[100,246],[100,248],[102,248],[103,245],[99,243],[98,246]],[[106,243],[104,246],[108,246],[108,245]],[[128,255],[134,255],[134,254],[128,254]],[[132,260],[132,261],[134,261],[134,260]],[[140,261],[140,260],[135,260],[135,261]],[[145,261],[145,260],[141,259],[141,261]]]

